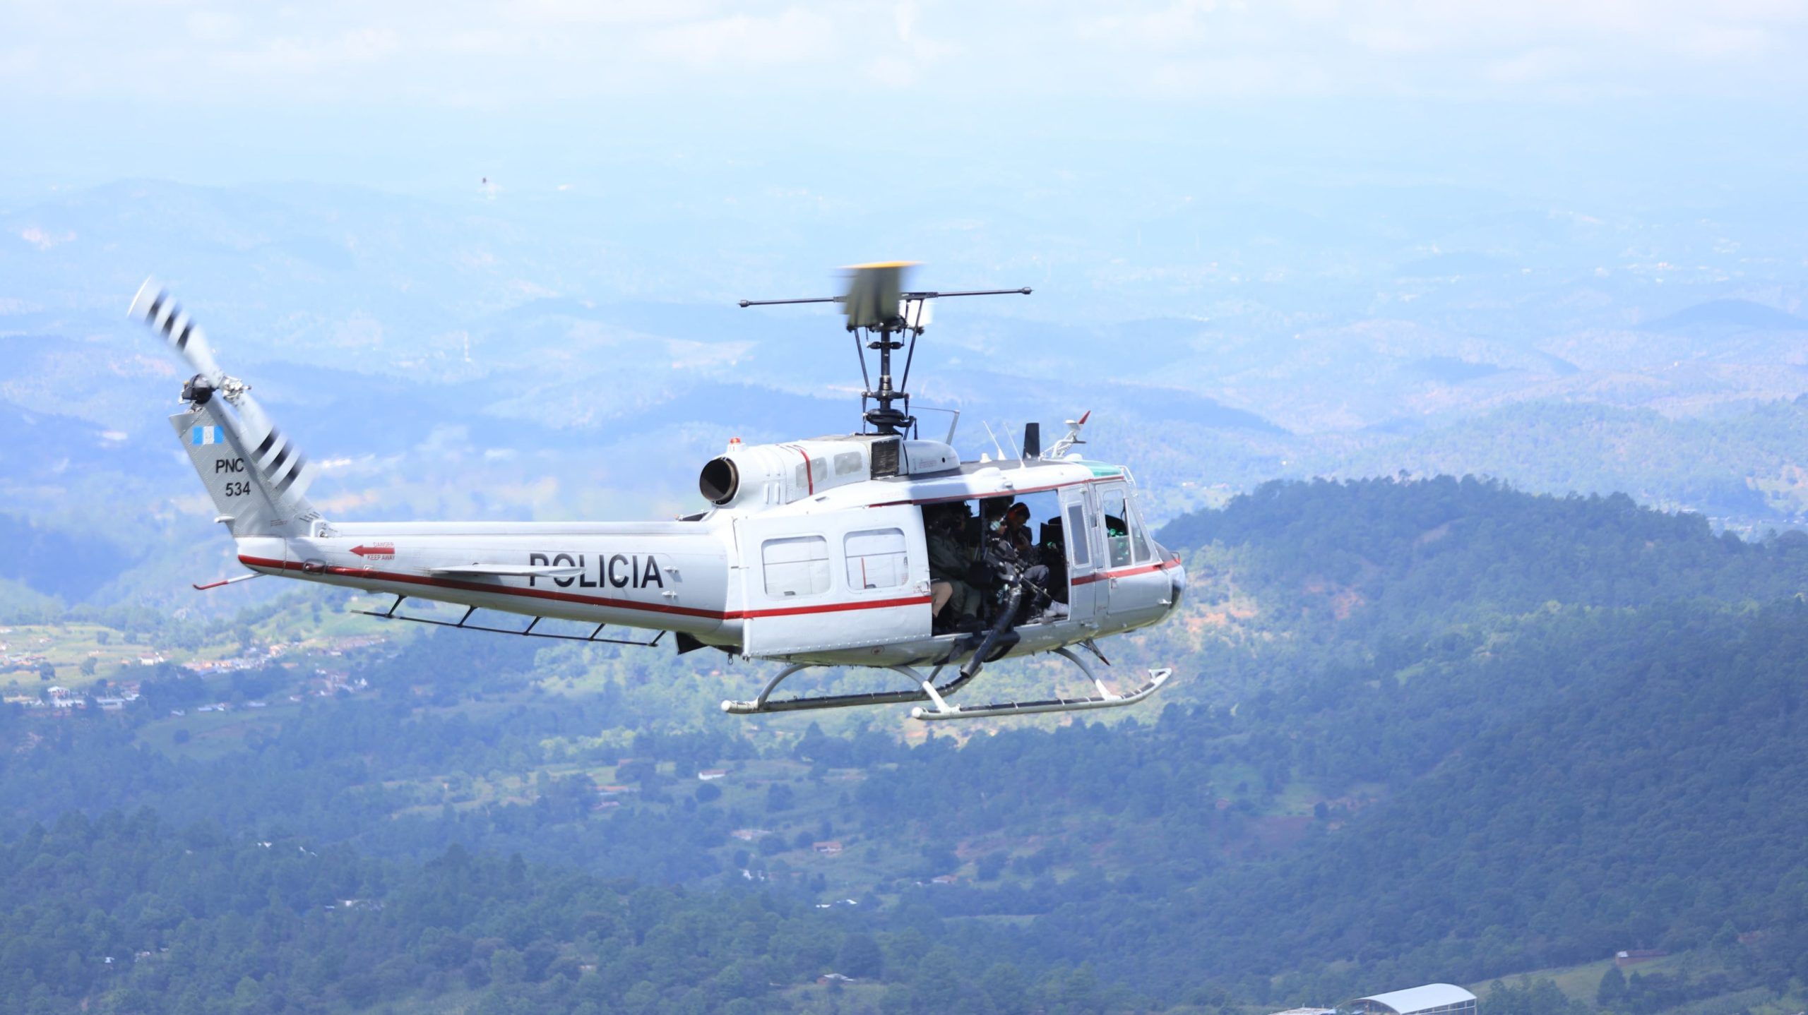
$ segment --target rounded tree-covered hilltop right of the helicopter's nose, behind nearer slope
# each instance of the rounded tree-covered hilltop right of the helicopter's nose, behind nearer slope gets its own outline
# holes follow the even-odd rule
[[[1452,623],[1542,603],[1765,601],[1808,589],[1808,536],[1714,535],[1631,497],[1544,497],[1474,477],[1267,482],[1184,515],[1163,544],[1235,551],[1235,580],[1275,609],[1345,596],[1356,627]],[[1329,610],[1320,609],[1320,614]],[[1349,634],[1349,623],[1343,634]]]

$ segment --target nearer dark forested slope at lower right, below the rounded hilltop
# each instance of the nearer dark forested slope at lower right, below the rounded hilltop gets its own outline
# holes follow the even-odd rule
[[[1783,988],[1808,975],[1804,657],[1799,601],[1558,612],[1486,648],[1345,672],[1342,688],[1260,703],[1246,724],[1170,712],[1141,759],[1291,726],[1300,737],[1284,740],[1276,769],[1293,777],[1334,787],[1423,775],[1322,811],[1285,854],[1191,883],[1163,878],[1179,856],[1148,851],[1137,881],[1157,890],[1063,903],[1036,936],[1058,950],[1108,928],[1139,977],[1184,963],[1224,977],[1291,972],[1307,999],[1640,946],[1721,948],[1730,973]],[[1154,791],[1172,811],[1186,778],[1208,771],[1117,771],[1108,753],[1092,757],[1096,780],[1123,780],[1132,807]],[[1177,834],[1163,845],[1184,849]]]

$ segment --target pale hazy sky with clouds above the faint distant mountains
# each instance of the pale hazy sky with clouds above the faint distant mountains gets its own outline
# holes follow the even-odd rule
[[[1763,0],[11,0],[0,181],[434,191],[622,163],[1157,159],[1201,135],[1255,175],[1354,154],[1378,179],[1446,157],[1506,182],[1558,148],[1665,144],[1786,175],[1801,52],[1808,5]]]

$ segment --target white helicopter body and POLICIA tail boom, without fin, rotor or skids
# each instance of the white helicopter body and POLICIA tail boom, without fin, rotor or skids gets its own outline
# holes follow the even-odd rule
[[[814,444],[768,448],[808,461]],[[743,471],[759,452],[739,455]],[[1056,569],[1063,587],[1054,592],[1065,609],[1018,625],[1002,656],[1146,627],[1179,603],[1184,567],[1143,529],[1134,482],[1121,468],[1070,455],[835,484],[824,475],[833,455],[819,459],[819,475],[779,477],[777,493],[749,489],[750,504],[687,520],[316,520],[307,535],[240,538],[239,560],[268,574],[409,600],[671,630],[738,656],[920,665],[947,657],[958,638],[933,632],[924,506],[1045,493],[1063,531],[1065,560]],[[783,486],[792,479],[805,482],[801,497]],[[817,479],[826,489],[817,491]]]

